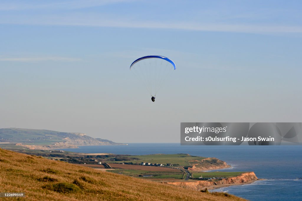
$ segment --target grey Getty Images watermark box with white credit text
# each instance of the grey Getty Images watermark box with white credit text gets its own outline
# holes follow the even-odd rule
[[[301,123],[181,123],[181,145],[301,145]]]

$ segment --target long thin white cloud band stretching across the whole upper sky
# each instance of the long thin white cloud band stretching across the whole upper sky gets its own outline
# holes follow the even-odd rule
[[[133,17],[115,17],[101,14],[69,14],[41,16],[5,16],[0,18],[0,24],[51,25],[51,26],[83,26],[83,27],[120,27],[170,29],[191,31],[213,31],[234,33],[302,33],[302,26],[258,25],[243,23],[199,23],[199,22],[163,22],[159,20],[137,20]]]

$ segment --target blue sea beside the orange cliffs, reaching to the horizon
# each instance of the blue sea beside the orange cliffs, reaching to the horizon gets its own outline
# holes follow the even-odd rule
[[[215,157],[231,165],[223,171],[254,171],[259,179],[214,191],[248,200],[302,200],[302,146],[185,146],[179,143],[129,143],[128,146],[81,146],[63,149],[81,153],[129,155],[177,154]],[[215,170],[217,171],[217,170]]]

